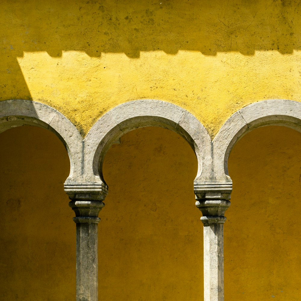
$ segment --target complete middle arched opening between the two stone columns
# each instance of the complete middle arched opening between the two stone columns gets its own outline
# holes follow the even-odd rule
[[[178,134],[132,130],[107,152],[99,225],[99,298],[200,300],[203,225],[195,207],[197,158]]]

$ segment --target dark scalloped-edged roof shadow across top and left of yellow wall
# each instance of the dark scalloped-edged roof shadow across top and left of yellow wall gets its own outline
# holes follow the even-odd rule
[[[0,100],[31,99],[17,62],[24,52],[291,54],[301,45],[300,10],[288,0],[3,1]]]

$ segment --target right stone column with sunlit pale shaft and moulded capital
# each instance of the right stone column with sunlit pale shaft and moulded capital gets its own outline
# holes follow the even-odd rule
[[[224,300],[224,216],[232,183],[195,183],[204,225],[204,301]]]

